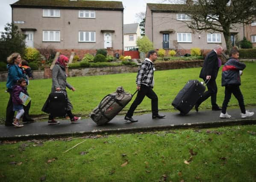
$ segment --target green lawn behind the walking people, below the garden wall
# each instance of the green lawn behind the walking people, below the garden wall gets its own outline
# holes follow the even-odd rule
[[[247,62],[247,67],[242,75],[241,91],[244,95],[244,102],[248,104],[256,104],[256,80],[255,70],[256,63]],[[155,72],[155,88],[154,91],[159,98],[159,110],[171,110],[173,106],[171,102],[190,79],[199,78],[201,68],[189,69],[171,69]],[[118,86],[123,86],[128,92],[135,92],[135,78],[137,73],[118,74],[118,75],[100,75],[86,77],[68,78],[68,82],[76,88],[75,92],[68,90],[68,97],[74,106],[73,112],[77,115],[88,116],[101,101],[101,99],[116,90]],[[218,96],[217,103],[221,106],[224,100],[224,87],[221,87],[221,69],[217,78]],[[6,105],[9,99],[9,93],[5,92],[6,82],[0,82],[0,120],[4,120],[6,114]],[[41,108],[47,99],[51,90],[51,79],[31,80],[28,92],[32,98],[30,109],[31,115],[43,114]],[[132,101],[124,108],[124,112],[129,109]],[[237,100],[232,96],[230,106],[238,107]],[[200,110],[211,108],[210,99],[200,105]],[[150,111],[150,99],[145,98],[141,105],[135,111]]]

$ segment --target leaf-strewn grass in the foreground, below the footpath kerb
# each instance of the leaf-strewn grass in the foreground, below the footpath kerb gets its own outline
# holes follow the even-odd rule
[[[1,182],[255,182],[256,127],[0,143],[0,169]]]

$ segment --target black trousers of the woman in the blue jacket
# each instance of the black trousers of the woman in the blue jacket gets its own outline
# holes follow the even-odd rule
[[[12,89],[8,89],[7,92],[10,94],[10,98],[6,107],[6,125],[12,125],[13,118],[15,115],[15,111],[13,111],[13,104],[12,104]],[[23,121],[29,121],[31,118],[29,116],[29,109],[30,109],[31,101],[26,106],[23,106],[24,109],[24,115],[23,115]]]

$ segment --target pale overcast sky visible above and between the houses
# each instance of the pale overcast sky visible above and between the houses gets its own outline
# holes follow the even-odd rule
[[[0,0],[0,32],[4,31],[6,23],[12,21],[12,9],[10,4],[17,2],[18,0]],[[163,0],[112,0],[122,1],[124,6],[124,24],[138,23],[138,19],[135,17],[136,13],[146,12],[147,3],[161,3]]]

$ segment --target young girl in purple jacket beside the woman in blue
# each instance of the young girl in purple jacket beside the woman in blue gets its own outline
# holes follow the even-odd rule
[[[15,116],[15,121],[12,124],[15,127],[24,126],[23,124],[20,123],[20,118],[24,114],[24,109],[22,105],[23,101],[19,97],[21,92],[28,95],[26,91],[26,80],[24,78],[21,78],[18,80],[18,85],[13,86],[13,93],[12,93],[13,111],[17,111],[17,114]]]

